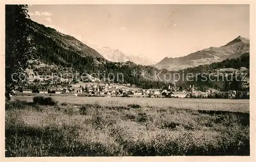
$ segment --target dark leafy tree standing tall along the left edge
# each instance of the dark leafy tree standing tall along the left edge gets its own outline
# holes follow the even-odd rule
[[[28,60],[32,59],[27,8],[28,5],[6,5],[5,96],[9,100],[11,90],[24,84]],[[25,76],[18,77],[21,73]]]

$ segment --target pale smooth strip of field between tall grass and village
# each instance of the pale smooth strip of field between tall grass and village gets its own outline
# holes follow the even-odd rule
[[[32,101],[33,96],[16,96],[18,99]],[[61,97],[53,96],[59,102],[76,104],[97,103],[101,106],[126,106],[127,104],[139,104],[143,107],[176,107],[193,110],[249,112],[249,100],[247,99],[197,99],[197,98],[134,98],[134,97]],[[14,98],[12,98],[14,99]]]

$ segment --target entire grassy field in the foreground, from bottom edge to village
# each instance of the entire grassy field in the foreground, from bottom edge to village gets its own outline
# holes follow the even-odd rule
[[[8,157],[250,154],[248,100],[18,98],[6,102]]]

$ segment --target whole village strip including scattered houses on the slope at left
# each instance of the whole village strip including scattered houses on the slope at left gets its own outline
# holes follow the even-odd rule
[[[52,78],[51,76],[33,77],[30,75],[29,82],[24,88],[16,91],[22,95],[29,93],[44,93],[53,96],[54,94],[65,94],[71,96],[90,97],[150,97],[150,98],[247,98],[249,92],[237,96],[237,91],[221,92],[217,89],[207,88],[200,91],[198,87],[189,85],[188,88],[179,85],[172,85],[166,88],[143,89],[129,83],[108,83],[100,82],[89,75],[86,80],[72,78]],[[243,97],[244,96],[244,97]]]

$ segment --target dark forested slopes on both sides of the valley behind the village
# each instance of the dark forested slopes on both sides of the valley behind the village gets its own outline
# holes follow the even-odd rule
[[[200,65],[180,71],[159,70],[156,67],[137,65],[130,61],[125,63],[110,62],[104,59],[97,51],[72,36],[61,34],[34,21],[30,21],[30,23],[30,30],[36,49],[36,60],[48,65],[54,65],[56,69],[68,68],[72,72],[78,72],[79,74],[92,74],[92,76],[99,77],[99,79],[106,82],[130,83],[146,89],[167,88],[168,85],[173,84],[188,87],[193,84],[201,90],[207,87],[224,90],[225,80],[211,81],[206,79],[206,81],[202,81],[203,78],[199,76],[197,80],[189,81],[186,78],[177,78],[175,73],[180,73],[180,76],[186,76],[187,73],[206,73],[206,78],[209,78],[209,73],[216,72],[221,68],[249,68],[249,53],[244,53],[236,59],[226,59],[222,62]],[[47,70],[40,68],[38,70],[48,75],[52,72],[52,70],[47,72]],[[59,73],[63,72],[61,70],[57,71]],[[102,75],[98,75],[98,73]],[[110,73],[112,75],[109,75]],[[121,78],[122,75],[123,79]],[[174,82],[174,80],[177,80],[177,82]]]

